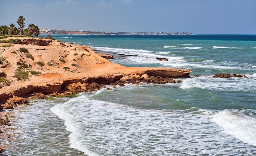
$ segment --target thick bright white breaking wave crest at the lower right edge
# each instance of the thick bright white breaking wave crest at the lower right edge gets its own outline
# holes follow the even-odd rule
[[[213,115],[212,120],[222,127],[225,133],[256,146],[256,118],[245,116],[240,111],[226,109]]]

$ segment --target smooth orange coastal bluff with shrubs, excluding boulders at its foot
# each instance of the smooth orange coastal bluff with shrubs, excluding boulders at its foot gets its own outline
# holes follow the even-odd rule
[[[88,46],[58,40],[26,37],[1,40],[2,102],[13,96],[25,96],[33,92],[61,92],[67,85],[78,82],[110,85],[130,75],[189,78],[191,72],[189,69],[124,67],[110,62],[106,56],[101,56]],[[27,78],[19,78],[19,73],[27,74]]]

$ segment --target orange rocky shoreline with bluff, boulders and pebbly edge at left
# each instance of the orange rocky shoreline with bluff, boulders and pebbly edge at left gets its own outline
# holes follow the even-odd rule
[[[58,40],[9,37],[0,41],[1,139],[11,136],[7,109],[27,105],[30,99],[75,97],[106,85],[176,83],[181,80],[173,78],[190,78],[191,73],[189,69],[123,67],[111,63],[110,55]]]

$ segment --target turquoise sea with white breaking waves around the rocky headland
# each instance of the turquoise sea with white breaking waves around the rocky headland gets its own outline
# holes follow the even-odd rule
[[[47,35],[40,35],[45,37]],[[14,109],[6,156],[254,156],[256,35],[52,35],[127,67],[190,69]],[[156,58],[167,58],[159,61]],[[243,78],[211,78],[219,73]],[[199,75],[200,77],[196,77]]]

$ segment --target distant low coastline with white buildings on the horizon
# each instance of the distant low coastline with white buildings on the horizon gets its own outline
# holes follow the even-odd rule
[[[189,32],[118,32],[118,31],[86,31],[86,30],[63,30],[63,29],[40,29],[40,34],[72,34],[72,35],[193,35]]]

